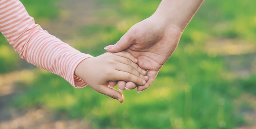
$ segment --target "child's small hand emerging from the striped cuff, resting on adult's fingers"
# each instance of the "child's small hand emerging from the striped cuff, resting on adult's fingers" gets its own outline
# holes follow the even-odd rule
[[[118,53],[104,53],[94,58],[83,60],[75,70],[75,75],[83,79],[90,87],[99,93],[124,101],[124,96],[111,88],[109,81],[134,82],[145,85],[148,80],[146,72],[138,67],[134,56],[122,51]]]

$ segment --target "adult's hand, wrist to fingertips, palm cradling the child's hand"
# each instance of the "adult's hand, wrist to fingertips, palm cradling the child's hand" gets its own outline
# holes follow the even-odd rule
[[[161,18],[157,15],[150,16],[132,26],[115,45],[105,47],[109,52],[131,53],[138,59],[139,67],[148,70],[149,79],[146,84],[137,87],[137,92],[143,91],[153,82],[163,64],[175,51],[182,35],[182,29]],[[136,87],[132,82],[119,83],[123,84],[120,87],[129,86],[128,89]]]

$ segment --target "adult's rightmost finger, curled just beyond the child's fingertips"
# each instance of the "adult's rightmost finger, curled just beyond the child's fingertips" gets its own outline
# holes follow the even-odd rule
[[[139,92],[143,91],[144,89],[147,89],[151,85],[151,83],[155,80],[158,72],[159,71],[148,71],[148,73],[147,73],[148,81],[146,82],[145,85],[139,85],[137,87],[137,92],[139,93]]]

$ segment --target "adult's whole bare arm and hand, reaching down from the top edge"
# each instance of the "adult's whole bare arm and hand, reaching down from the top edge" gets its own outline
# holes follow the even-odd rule
[[[156,78],[164,63],[175,51],[186,25],[203,0],[162,0],[155,13],[133,25],[115,45],[105,49],[109,52],[127,51],[138,59],[138,65],[147,70],[145,85],[118,81],[119,89],[141,92]],[[121,87],[121,88],[120,88]]]

